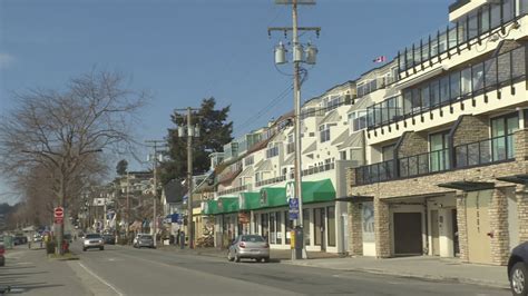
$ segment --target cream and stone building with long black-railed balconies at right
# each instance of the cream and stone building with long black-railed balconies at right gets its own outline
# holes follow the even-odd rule
[[[398,52],[383,89],[358,82],[371,105],[353,116],[365,162],[348,171],[352,255],[505,265],[528,239],[527,12],[459,0],[449,26]]]

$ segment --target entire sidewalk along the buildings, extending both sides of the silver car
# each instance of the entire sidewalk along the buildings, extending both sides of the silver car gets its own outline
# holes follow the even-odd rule
[[[159,249],[179,254],[226,257],[227,250],[218,248],[179,249],[177,246],[159,246]],[[506,266],[465,264],[458,258],[413,256],[378,259],[374,257],[340,257],[324,251],[309,251],[306,260],[291,260],[291,250],[271,249],[272,262],[283,264],[361,272],[430,280],[477,284],[509,288]]]

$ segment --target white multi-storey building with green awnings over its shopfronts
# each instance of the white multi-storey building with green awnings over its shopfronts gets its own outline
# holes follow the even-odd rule
[[[355,106],[365,111],[356,99],[355,82],[348,81],[302,107],[307,250],[345,253],[349,245],[345,172],[363,161],[363,138],[351,136],[353,122],[361,122]],[[290,248],[293,221],[286,186],[294,181],[293,132],[290,112],[224,147],[224,161],[217,167],[225,169],[216,178],[215,199],[203,206],[204,215],[215,217],[216,246],[226,246],[238,234],[260,234],[272,248]]]

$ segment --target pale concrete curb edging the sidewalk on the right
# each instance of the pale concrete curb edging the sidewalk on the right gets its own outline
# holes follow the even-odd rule
[[[456,283],[456,284],[471,284],[471,285],[479,285],[486,287],[493,287],[493,288],[501,288],[501,289],[509,289],[509,283],[499,283],[499,282],[488,282],[482,279],[476,278],[460,278],[460,277],[449,277],[449,276],[436,276],[436,275],[417,275],[411,273],[401,273],[401,272],[391,272],[391,270],[382,270],[382,269],[372,269],[372,268],[332,268],[326,266],[315,266],[310,264],[297,264],[293,262],[284,262],[284,264],[296,265],[296,266],[305,266],[312,268],[325,268],[339,272],[356,272],[356,273],[368,273],[374,275],[388,275],[394,277],[402,277],[402,278],[413,278],[413,279],[424,279],[424,280],[434,280],[434,282],[444,282],[444,283]]]

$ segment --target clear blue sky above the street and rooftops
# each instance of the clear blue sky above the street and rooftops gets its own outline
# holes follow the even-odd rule
[[[446,27],[451,2],[319,0],[303,7],[300,24],[322,27],[319,39],[303,36],[320,50],[303,100]],[[231,105],[237,137],[293,108],[292,95],[280,96],[291,78],[273,63],[273,47],[284,39],[270,39],[270,26],[291,26],[290,8],[273,0],[0,0],[0,114],[17,105],[12,91],[61,88],[97,67],[123,72],[131,88],[154,95],[136,129],[141,141],[166,136],[174,108],[198,107],[211,96],[219,107]],[[0,185],[0,203],[7,190]]]

